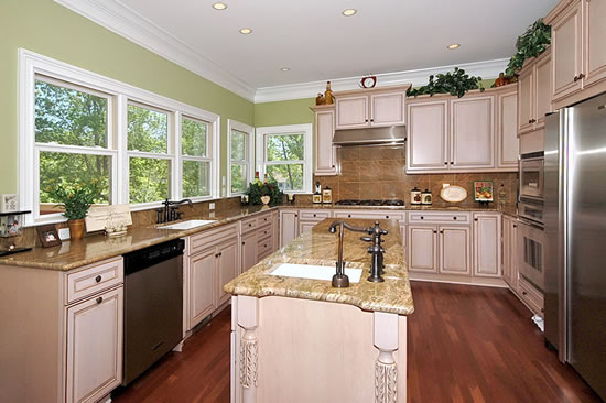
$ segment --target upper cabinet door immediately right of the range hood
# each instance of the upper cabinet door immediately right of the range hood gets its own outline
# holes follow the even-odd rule
[[[408,106],[407,172],[448,168],[447,101]]]

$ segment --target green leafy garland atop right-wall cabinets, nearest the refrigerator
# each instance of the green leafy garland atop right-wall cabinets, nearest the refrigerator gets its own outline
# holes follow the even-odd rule
[[[545,52],[551,43],[551,26],[542,19],[537,20],[523,34],[518,36],[516,48],[518,52],[509,59],[505,75],[513,77],[523,66],[527,58],[537,57]]]

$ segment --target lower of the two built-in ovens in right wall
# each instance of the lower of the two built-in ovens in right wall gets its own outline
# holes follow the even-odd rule
[[[537,288],[544,290],[545,235],[540,222],[518,218],[518,270]]]

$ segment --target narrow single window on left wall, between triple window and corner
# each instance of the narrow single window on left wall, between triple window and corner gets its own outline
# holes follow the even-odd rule
[[[229,172],[227,195],[241,195],[253,179],[253,129],[235,120],[227,121]]]

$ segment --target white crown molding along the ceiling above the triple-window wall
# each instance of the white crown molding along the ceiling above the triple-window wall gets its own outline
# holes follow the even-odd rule
[[[255,88],[117,0],[54,1],[248,100],[255,99]]]

